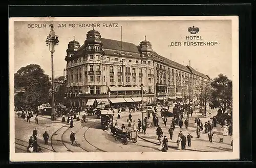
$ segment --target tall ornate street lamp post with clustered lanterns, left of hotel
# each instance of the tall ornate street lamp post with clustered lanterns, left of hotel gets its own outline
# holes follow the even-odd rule
[[[53,53],[55,52],[55,46],[58,45],[58,36],[55,35],[53,25],[51,24],[51,31],[46,39],[46,45],[49,45],[49,51],[51,52],[52,58],[52,114],[51,119],[56,120],[55,102],[54,102],[54,70],[53,70]]]

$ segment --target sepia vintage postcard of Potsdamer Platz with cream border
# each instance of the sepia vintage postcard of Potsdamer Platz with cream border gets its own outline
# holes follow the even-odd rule
[[[238,16],[10,18],[10,161],[239,159],[238,40]]]

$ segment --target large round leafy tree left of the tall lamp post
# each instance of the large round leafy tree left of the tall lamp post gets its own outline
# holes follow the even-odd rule
[[[30,64],[20,68],[14,74],[14,86],[25,88],[24,93],[18,93],[14,97],[14,104],[18,108],[35,108],[49,100],[51,83],[39,65]]]

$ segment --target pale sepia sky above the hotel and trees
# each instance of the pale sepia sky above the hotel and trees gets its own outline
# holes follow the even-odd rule
[[[159,55],[183,65],[190,65],[216,78],[219,74],[232,77],[232,34],[231,20],[131,20],[131,21],[15,21],[14,22],[14,71],[29,64],[39,64],[45,73],[51,76],[51,53],[46,46],[53,23],[59,44],[54,52],[55,77],[63,75],[66,67],[66,50],[69,41],[75,40],[82,45],[86,34],[92,27],[69,27],[71,23],[96,23],[102,38],[131,42],[139,45],[141,41],[150,41],[152,49]],[[46,24],[46,28],[31,28],[31,24]],[[65,25],[66,27],[59,27]],[[112,27],[109,27],[109,25]],[[103,27],[104,26],[104,27]],[[108,26],[108,27],[107,27]],[[189,27],[198,27],[195,35],[188,32]],[[186,36],[200,36],[187,40]],[[171,42],[181,42],[180,46],[169,46]],[[213,46],[184,46],[184,42],[216,42]]]

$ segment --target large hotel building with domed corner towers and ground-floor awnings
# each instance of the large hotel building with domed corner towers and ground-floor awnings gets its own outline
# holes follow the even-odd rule
[[[144,103],[175,101],[209,81],[194,68],[157,54],[146,37],[135,45],[91,30],[82,45],[75,38],[69,42],[65,60],[71,106],[140,102],[141,89]]]

